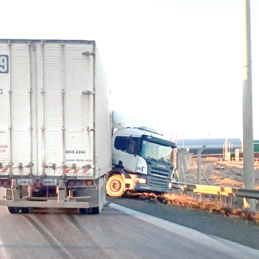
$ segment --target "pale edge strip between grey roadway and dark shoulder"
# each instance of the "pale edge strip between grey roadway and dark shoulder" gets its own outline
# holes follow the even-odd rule
[[[192,240],[196,243],[205,245],[207,247],[211,247],[214,250],[218,250],[221,253],[225,253],[228,256],[239,258],[239,259],[258,259],[259,258],[259,250],[250,248],[248,246],[240,245],[235,242],[231,242],[225,239],[218,239],[202,232],[199,232],[195,229],[187,228],[185,226],[160,219],[158,217],[150,216],[142,212],[138,212],[118,204],[110,203],[109,208],[118,210],[127,215],[136,217],[140,220],[144,220],[154,226],[159,228],[166,229],[176,235],[183,236],[189,240]],[[234,245],[233,245],[234,244]]]

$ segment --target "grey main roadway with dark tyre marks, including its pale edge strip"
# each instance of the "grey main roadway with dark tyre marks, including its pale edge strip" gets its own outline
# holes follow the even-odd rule
[[[0,258],[4,259],[245,259],[259,258],[258,252],[116,204],[100,215],[64,209],[9,214],[0,206]]]

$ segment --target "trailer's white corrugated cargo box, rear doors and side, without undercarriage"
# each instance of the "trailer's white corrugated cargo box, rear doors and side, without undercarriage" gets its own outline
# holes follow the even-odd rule
[[[0,40],[0,175],[109,171],[109,89],[94,50],[92,41]]]

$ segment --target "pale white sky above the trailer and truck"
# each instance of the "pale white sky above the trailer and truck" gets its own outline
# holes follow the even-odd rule
[[[254,139],[258,14],[251,0]],[[0,38],[95,40],[113,109],[166,136],[242,139],[242,19],[242,0],[1,1]]]

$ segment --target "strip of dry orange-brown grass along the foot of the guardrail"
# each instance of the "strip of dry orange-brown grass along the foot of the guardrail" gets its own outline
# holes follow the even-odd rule
[[[135,193],[129,194],[142,199],[157,200],[161,203],[173,204],[187,208],[196,208],[202,211],[214,212],[222,214],[226,217],[241,218],[253,221],[255,225],[259,224],[259,212],[249,212],[244,208],[233,208],[231,204],[225,203],[219,199],[209,199],[204,196],[195,197],[187,194],[163,194],[154,193]]]

